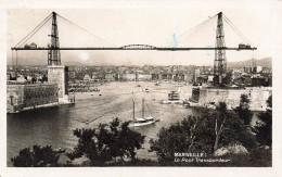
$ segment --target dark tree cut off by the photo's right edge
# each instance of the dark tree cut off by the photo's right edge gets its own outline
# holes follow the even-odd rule
[[[255,132],[257,141],[261,146],[272,146],[272,96],[267,100],[268,109],[266,112],[258,114],[258,122],[256,122]]]

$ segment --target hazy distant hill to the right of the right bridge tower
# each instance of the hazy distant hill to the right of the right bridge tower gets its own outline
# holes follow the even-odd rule
[[[257,66],[272,68],[272,58],[264,58],[260,60],[255,60]],[[253,60],[240,61],[240,62],[227,62],[228,67],[244,67],[253,66]]]

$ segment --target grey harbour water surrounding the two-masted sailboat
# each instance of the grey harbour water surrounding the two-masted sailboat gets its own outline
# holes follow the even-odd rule
[[[178,90],[171,84],[154,86],[153,83],[139,83],[142,88],[149,88],[144,92],[145,115],[161,118],[161,122],[144,127],[132,127],[134,130],[145,135],[143,150],[138,151],[139,157],[155,157],[148,152],[149,140],[156,138],[158,130],[164,126],[182,119],[187,115],[198,114],[193,109],[184,109],[181,105],[161,104],[161,100],[167,99],[171,90]],[[73,136],[76,128],[95,128],[100,123],[108,124],[113,118],[121,121],[132,118],[132,90],[136,83],[111,83],[101,86],[100,92],[76,93],[75,105],[61,105],[18,114],[8,114],[8,165],[11,166],[11,157],[18,154],[23,148],[33,144],[54,148],[61,147],[70,151],[77,143]],[[134,89],[136,115],[141,116],[142,88]],[[181,87],[181,97],[191,96],[191,86]],[[101,96],[99,96],[101,94]],[[85,122],[89,122],[86,124]]]

